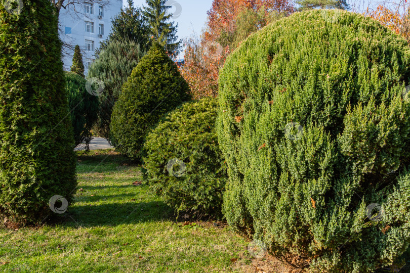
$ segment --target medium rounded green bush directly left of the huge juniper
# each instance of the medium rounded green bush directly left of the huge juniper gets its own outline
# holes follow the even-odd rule
[[[146,138],[145,178],[176,211],[221,216],[227,173],[215,121],[217,100],[183,104]]]

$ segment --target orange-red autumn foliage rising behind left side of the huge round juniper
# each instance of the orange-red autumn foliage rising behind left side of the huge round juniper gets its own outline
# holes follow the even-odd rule
[[[206,31],[186,41],[185,64],[180,66],[192,97],[216,97],[226,57],[249,34],[294,10],[289,0],[214,0]]]

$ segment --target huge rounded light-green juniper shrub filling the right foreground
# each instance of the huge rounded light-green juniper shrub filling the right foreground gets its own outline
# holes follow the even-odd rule
[[[409,82],[406,41],[359,14],[251,35],[219,78],[228,223],[312,271],[390,265],[410,242]]]

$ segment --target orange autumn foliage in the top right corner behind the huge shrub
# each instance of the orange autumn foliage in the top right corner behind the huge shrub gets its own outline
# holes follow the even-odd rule
[[[407,0],[401,0],[390,7],[379,5],[375,11],[367,9],[365,14],[402,35],[410,43],[410,5]]]

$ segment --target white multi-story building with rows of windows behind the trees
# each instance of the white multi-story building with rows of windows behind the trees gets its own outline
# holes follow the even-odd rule
[[[110,0],[108,5],[102,6],[98,2],[76,4],[69,9],[60,11],[60,38],[73,47],[78,44],[83,53],[85,73],[94,61],[94,52],[100,41],[105,40],[111,31],[111,19],[122,8],[122,0]],[[76,12],[77,11],[77,12]],[[63,58],[64,70],[69,71],[72,65],[73,51]]]

